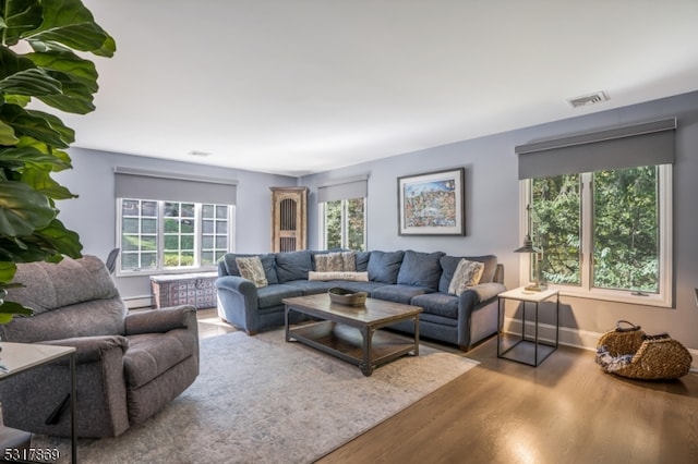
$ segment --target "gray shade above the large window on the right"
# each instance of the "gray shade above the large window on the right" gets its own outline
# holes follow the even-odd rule
[[[674,162],[676,118],[515,147],[519,179]]]

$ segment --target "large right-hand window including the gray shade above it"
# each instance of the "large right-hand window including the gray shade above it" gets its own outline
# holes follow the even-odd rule
[[[540,264],[565,294],[671,307],[675,130],[670,118],[517,146],[521,228],[543,248],[521,276]]]

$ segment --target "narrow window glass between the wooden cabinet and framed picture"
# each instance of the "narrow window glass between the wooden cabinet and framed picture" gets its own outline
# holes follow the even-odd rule
[[[323,247],[365,249],[365,198],[321,203]]]

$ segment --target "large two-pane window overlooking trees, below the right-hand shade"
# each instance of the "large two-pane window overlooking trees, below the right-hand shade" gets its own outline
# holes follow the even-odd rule
[[[671,164],[528,180],[543,281],[579,296],[671,305]]]

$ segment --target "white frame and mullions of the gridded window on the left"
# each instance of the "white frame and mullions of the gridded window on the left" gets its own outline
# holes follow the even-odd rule
[[[176,273],[191,273],[191,272],[209,272],[217,270],[217,265],[201,265],[201,253],[202,253],[202,242],[203,242],[203,228],[202,228],[202,210],[203,205],[214,205],[210,202],[206,203],[197,203],[197,202],[180,202],[180,200],[157,200],[157,199],[147,199],[147,198],[117,198],[117,247],[122,248],[122,220],[123,220],[123,209],[121,202],[123,199],[139,199],[143,202],[155,202],[157,204],[157,266],[155,268],[148,269],[121,269],[121,254],[119,254],[119,258],[116,266],[116,276],[117,277],[130,277],[130,276],[149,276],[149,274],[176,274]],[[177,268],[166,268],[164,262],[164,247],[165,247],[165,233],[164,233],[164,205],[165,203],[190,203],[194,204],[194,266],[182,266]],[[216,204],[218,206],[225,206],[228,208],[228,252],[234,252],[234,232],[236,232],[236,206],[234,205],[225,205],[225,204]]]

